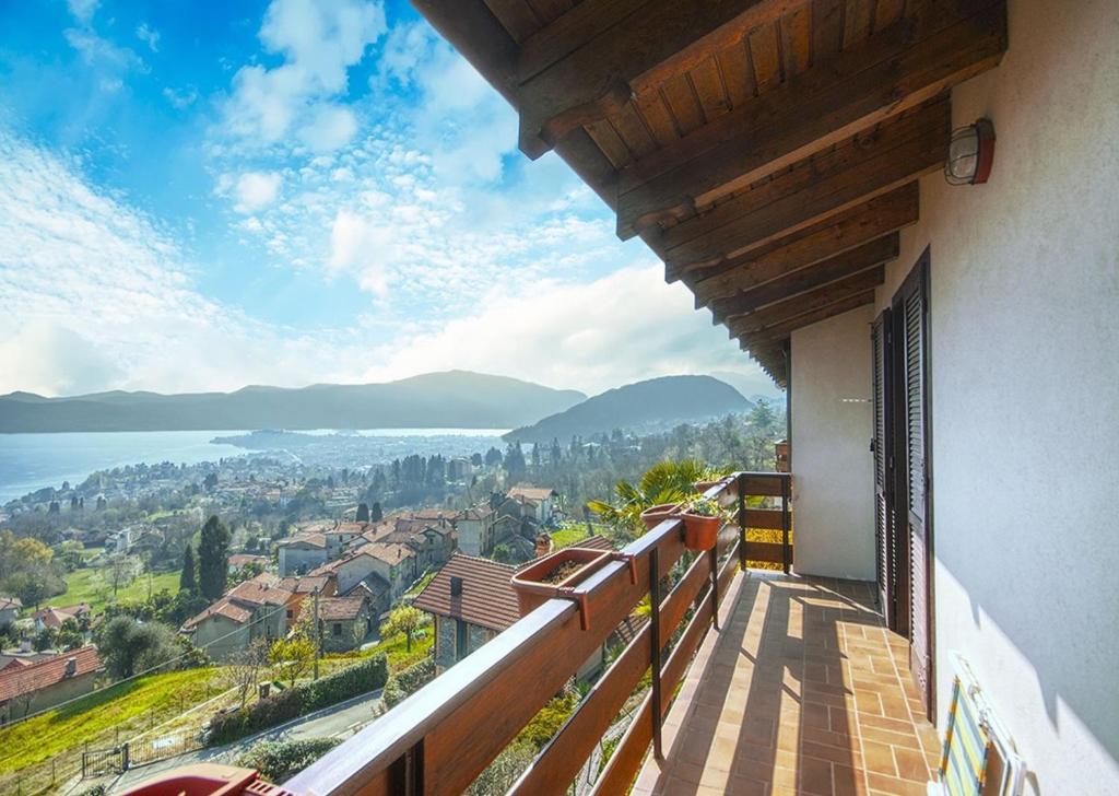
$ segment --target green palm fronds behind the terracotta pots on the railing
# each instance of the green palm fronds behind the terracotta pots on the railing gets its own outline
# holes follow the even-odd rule
[[[724,475],[697,459],[661,461],[646,470],[636,485],[618,481],[612,502],[591,500],[586,505],[620,536],[633,540],[645,533],[641,512],[662,503],[680,503],[695,493],[696,481],[715,480]]]

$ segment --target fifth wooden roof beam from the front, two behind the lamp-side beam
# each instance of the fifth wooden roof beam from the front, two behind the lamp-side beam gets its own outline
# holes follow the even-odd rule
[[[721,324],[728,317],[753,312],[767,305],[791,299],[826,284],[838,282],[859,271],[881,265],[895,259],[900,250],[901,235],[895,232],[824,262],[793,271],[781,279],[767,282],[752,290],[742,291],[732,298],[714,301],[711,310],[715,316],[715,322]]]

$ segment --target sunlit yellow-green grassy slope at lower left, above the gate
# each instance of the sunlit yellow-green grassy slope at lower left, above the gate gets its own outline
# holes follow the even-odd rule
[[[68,774],[74,765],[81,765],[85,745],[91,749],[111,747],[117,736],[123,741],[177,715],[206,700],[207,694],[217,694],[222,677],[220,668],[152,674],[0,729],[0,792],[15,793],[9,775],[17,771],[26,783],[49,776],[55,756],[59,771]]]

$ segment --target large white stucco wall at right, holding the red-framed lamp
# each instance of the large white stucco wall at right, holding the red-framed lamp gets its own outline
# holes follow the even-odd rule
[[[959,650],[1027,793],[1117,794],[1119,2],[1009,13],[1002,66],[952,100],[995,122],[990,182],[922,180],[878,303],[931,245],[939,723]]]

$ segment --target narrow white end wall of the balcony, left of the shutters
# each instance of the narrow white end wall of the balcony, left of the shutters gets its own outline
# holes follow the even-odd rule
[[[874,580],[869,307],[792,334],[794,569]]]

